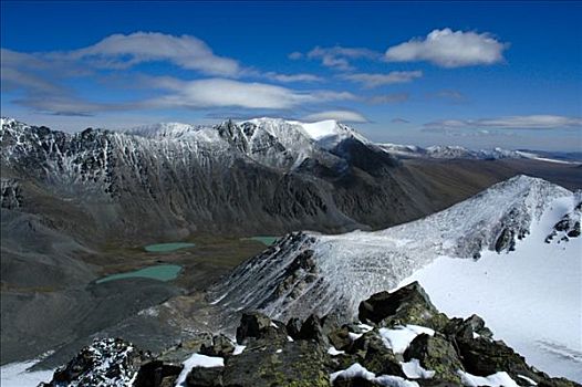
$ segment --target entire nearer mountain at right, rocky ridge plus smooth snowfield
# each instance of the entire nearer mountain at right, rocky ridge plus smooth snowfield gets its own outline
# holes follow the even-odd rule
[[[459,315],[455,305],[463,305],[465,314],[481,314],[502,336],[509,336],[510,344],[544,369],[561,375],[573,364],[582,364],[582,348],[575,344],[580,337],[575,318],[582,313],[576,293],[576,281],[580,284],[582,278],[578,238],[581,202],[581,192],[518,176],[444,211],[383,231],[290,234],[241,265],[209,297],[232,311],[259,308],[283,321],[312,313],[332,313],[349,321],[371,294],[395,289],[409,279],[422,284],[433,279],[428,291],[435,289],[437,305],[445,312]],[[438,270],[437,265],[432,270],[437,260],[445,260],[439,264],[447,269]],[[428,274],[417,274],[423,272]],[[549,273],[557,276],[548,279]],[[553,285],[543,285],[548,281]],[[457,284],[461,286],[458,290]],[[520,284],[526,286],[523,291]],[[496,289],[489,291],[489,285]],[[519,297],[511,296],[512,292]],[[569,296],[562,297],[562,292]],[[488,299],[489,293],[493,299]],[[447,302],[451,294],[455,303]],[[528,299],[536,300],[534,310],[528,306]],[[557,299],[563,304],[555,305]],[[551,311],[562,318],[568,333],[552,333],[554,321],[547,315]],[[513,315],[537,322],[523,322],[534,327],[528,328],[528,336],[519,335],[521,325],[513,322]],[[550,344],[532,345],[538,337]],[[547,353],[552,351],[553,355]]]

